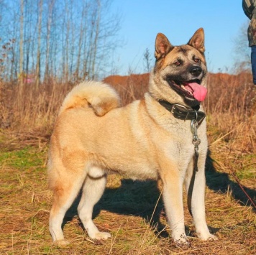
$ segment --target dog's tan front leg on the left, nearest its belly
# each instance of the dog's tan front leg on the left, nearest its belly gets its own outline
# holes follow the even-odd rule
[[[178,245],[188,244],[183,212],[182,186],[183,178],[177,168],[168,168],[161,178],[163,180],[163,200],[173,241]],[[170,173],[171,171],[171,173]]]

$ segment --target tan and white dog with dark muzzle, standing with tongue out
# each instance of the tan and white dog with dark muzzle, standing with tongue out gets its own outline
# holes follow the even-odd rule
[[[133,180],[162,180],[165,213],[178,245],[188,245],[184,183],[196,235],[217,239],[206,225],[204,205],[207,137],[204,109],[199,109],[207,92],[204,50],[202,28],[180,46],[157,34],[149,90],[124,107],[105,83],[83,82],[68,93],[52,132],[47,166],[53,192],[50,233],[56,244],[68,244],[61,226],[80,191],[78,215],[88,236],[111,236],[98,230],[92,213],[106,175],[113,172]]]

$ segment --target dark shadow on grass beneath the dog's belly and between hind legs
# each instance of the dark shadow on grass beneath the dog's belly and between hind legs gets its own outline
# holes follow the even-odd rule
[[[160,215],[164,215],[165,212],[163,200],[160,198],[157,203],[160,196],[157,182],[150,180],[133,181],[129,179],[123,179],[121,182],[122,185],[120,187],[106,188],[101,200],[93,208],[93,218],[96,218],[101,210],[108,210],[111,213],[121,215],[140,216],[147,223],[150,223],[150,226],[155,228],[159,236],[167,237],[169,234],[164,230],[165,226],[160,223]],[[81,195],[78,196],[66,213],[63,226],[75,215],[78,215],[77,208],[80,198]]]

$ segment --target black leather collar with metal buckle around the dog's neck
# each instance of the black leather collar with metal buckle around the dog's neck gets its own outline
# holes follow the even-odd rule
[[[169,103],[165,100],[159,100],[158,102],[161,106],[165,107],[166,110],[170,111],[176,119],[182,119],[183,121],[195,120],[198,121],[198,125],[200,125],[206,117],[206,114],[203,111],[198,111],[200,106],[187,108],[178,103]]]

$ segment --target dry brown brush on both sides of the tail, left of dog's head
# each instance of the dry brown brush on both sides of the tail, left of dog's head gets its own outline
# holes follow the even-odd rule
[[[142,98],[147,91],[149,75],[109,76],[104,81],[119,92],[123,104]],[[120,81],[122,80],[122,81]],[[35,84],[0,83],[0,129],[22,133],[24,131],[52,130],[52,125],[63,99],[75,84],[60,84],[55,80]]]

